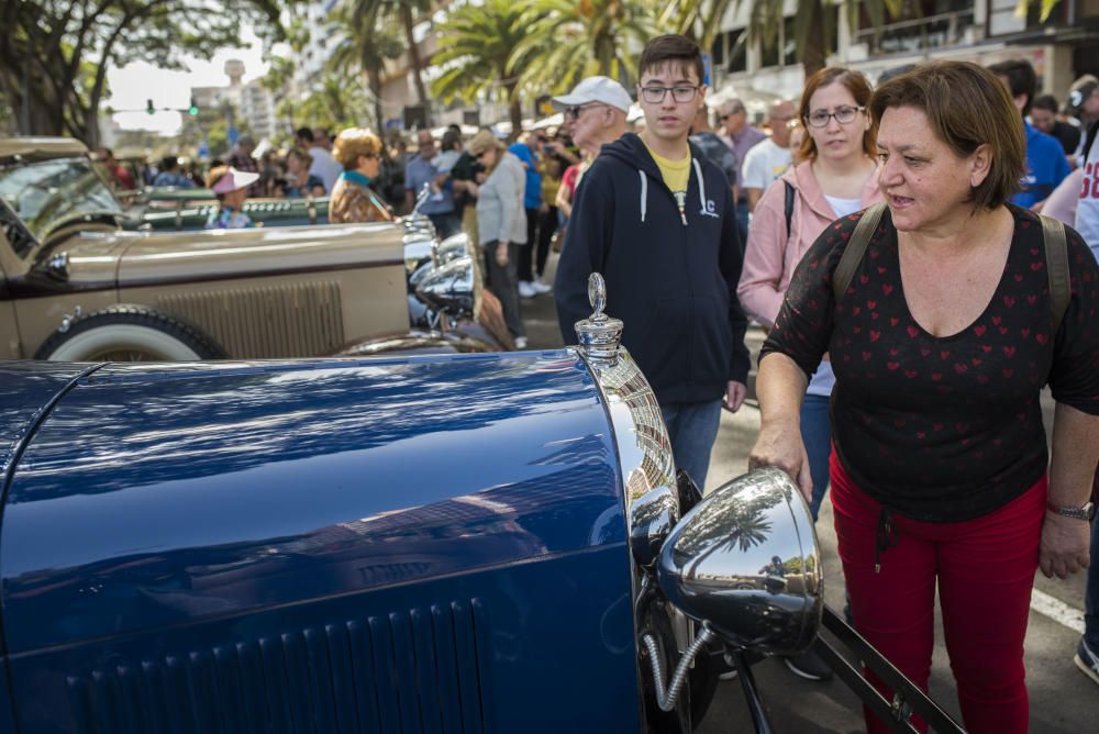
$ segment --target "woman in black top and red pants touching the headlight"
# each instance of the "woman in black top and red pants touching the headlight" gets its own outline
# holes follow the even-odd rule
[[[856,629],[926,689],[937,585],[966,729],[1022,733],[1034,571],[1088,565],[1078,516],[1099,459],[1099,266],[1068,230],[1055,315],[1042,222],[1007,203],[1025,170],[1022,122],[987,70],[918,67],[875,91],[870,112],[888,207],[839,298],[864,214],[832,223],[798,267],[761,357],[750,466],[781,467],[809,494],[798,412],[829,353],[832,503]],[[867,726],[886,731],[869,712]]]

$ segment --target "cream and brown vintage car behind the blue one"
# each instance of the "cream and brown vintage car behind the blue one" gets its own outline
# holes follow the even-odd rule
[[[0,140],[0,358],[510,346],[473,257],[424,267],[437,242],[422,223],[153,233],[124,231],[125,219],[81,143]],[[451,294],[459,313],[446,313]],[[454,333],[462,323],[474,338]]]

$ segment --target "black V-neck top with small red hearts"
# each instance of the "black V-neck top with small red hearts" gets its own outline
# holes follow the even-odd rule
[[[839,303],[832,274],[861,213],[833,222],[801,260],[763,355],[836,375],[832,440],[852,479],[910,518],[958,522],[1033,486],[1048,463],[1039,402],[1099,414],[1099,266],[1068,230],[1072,299],[1056,334],[1042,224],[1011,207],[1015,232],[984,313],[936,337],[909,313],[897,231],[885,212]]]

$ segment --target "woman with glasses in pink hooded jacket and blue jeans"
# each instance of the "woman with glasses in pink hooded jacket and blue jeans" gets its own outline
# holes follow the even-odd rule
[[[836,219],[881,201],[877,151],[866,105],[870,86],[858,71],[821,69],[809,78],[799,111],[808,133],[787,170],[756,204],[736,294],[770,329],[801,257]],[[789,224],[789,226],[787,226]],[[831,452],[828,404],[835,376],[826,358],[809,382],[801,435],[813,478],[813,518],[828,489]]]

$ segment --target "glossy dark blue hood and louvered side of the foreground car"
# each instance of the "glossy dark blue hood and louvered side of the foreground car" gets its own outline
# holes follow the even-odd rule
[[[80,374],[29,369],[0,414]],[[0,527],[21,731],[637,731],[575,354],[108,365],[38,422]]]

